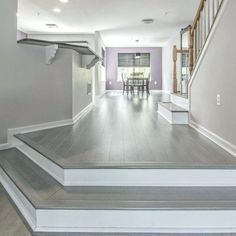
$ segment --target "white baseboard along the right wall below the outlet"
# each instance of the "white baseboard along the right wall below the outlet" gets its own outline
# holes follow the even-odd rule
[[[204,128],[203,126],[197,124],[194,121],[190,121],[189,124],[193,129],[198,131],[199,133],[203,134],[206,136],[208,139],[219,145],[221,148],[223,148],[225,151],[229,152],[231,155],[236,157],[236,146],[233,145],[232,143],[226,141],[225,139],[219,137],[215,133],[211,132],[210,130]]]

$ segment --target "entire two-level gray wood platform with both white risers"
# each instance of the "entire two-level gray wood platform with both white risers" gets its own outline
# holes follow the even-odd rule
[[[33,231],[236,232],[235,157],[170,125],[162,99],[107,94],[73,126],[13,137],[0,182]]]

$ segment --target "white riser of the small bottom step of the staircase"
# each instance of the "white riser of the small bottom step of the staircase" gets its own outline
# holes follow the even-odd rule
[[[158,113],[164,117],[170,124],[173,125],[185,125],[189,123],[188,112],[173,112],[169,111],[165,107],[158,105]]]

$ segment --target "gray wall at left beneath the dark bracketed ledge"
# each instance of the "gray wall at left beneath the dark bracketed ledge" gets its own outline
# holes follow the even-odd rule
[[[17,45],[17,1],[0,7],[0,143],[7,130],[72,118],[72,51],[45,64],[45,49]]]

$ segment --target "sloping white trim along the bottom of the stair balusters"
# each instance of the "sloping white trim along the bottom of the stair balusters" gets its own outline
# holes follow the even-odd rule
[[[208,36],[208,39],[207,39],[207,41],[206,41],[206,44],[204,45],[204,48],[203,48],[203,50],[202,50],[202,52],[201,52],[201,54],[200,54],[200,57],[199,57],[199,59],[198,59],[198,61],[197,61],[197,64],[196,64],[196,66],[195,66],[195,68],[194,68],[194,71],[193,71],[193,74],[192,74],[192,76],[191,76],[191,79],[190,79],[190,81],[189,81],[189,93],[191,92],[192,83],[193,83],[193,81],[195,80],[195,77],[196,77],[196,75],[197,75],[197,72],[198,72],[198,70],[199,70],[199,67],[200,67],[200,65],[201,65],[201,63],[202,63],[202,61],[203,61],[203,58],[204,58],[205,55],[206,55],[207,49],[208,49],[208,47],[209,47],[209,45],[210,45],[211,40],[213,39],[213,36],[214,36],[214,34],[215,34],[215,31],[216,31],[216,29],[217,29],[217,27],[218,27],[218,25],[219,25],[219,23],[220,23],[220,21],[221,21],[221,18],[222,18],[222,16],[223,16],[224,12],[225,12],[225,9],[226,9],[228,3],[229,3],[229,0],[224,0],[224,2],[222,3],[221,9],[220,9],[220,11],[219,11],[219,13],[218,13],[218,16],[216,17],[216,20],[215,20],[214,25],[213,25],[213,27],[212,27],[212,29],[211,29],[211,32],[210,32],[210,34],[209,34],[209,36]]]

